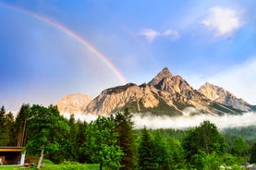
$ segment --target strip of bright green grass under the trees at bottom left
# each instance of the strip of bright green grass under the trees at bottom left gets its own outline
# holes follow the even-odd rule
[[[18,167],[18,166],[1,166],[1,170],[19,170],[24,169],[24,167]],[[35,167],[26,168],[26,169],[36,169]],[[45,164],[44,167],[41,168],[42,170],[61,170],[61,169],[67,169],[66,164]],[[79,169],[84,170],[98,170],[100,169],[99,164],[79,164]]]

